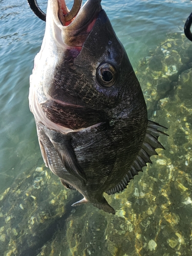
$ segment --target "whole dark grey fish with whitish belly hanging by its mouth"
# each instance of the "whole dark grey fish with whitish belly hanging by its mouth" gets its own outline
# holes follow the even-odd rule
[[[147,118],[139,81],[100,0],[71,19],[65,0],[49,0],[29,105],[42,158],[82,200],[115,214],[104,193],[123,191],[163,148],[164,127]],[[165,128],[165,127],[164,127]]]

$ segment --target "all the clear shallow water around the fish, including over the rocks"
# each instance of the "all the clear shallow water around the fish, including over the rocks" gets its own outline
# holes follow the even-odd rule
[[[47,1],[38,3],[46,10]],[[45,23],[27,2],[1,1],[1,255],[191,255],[192,42],[182,33],[192,3],[113,0],[102,7],[137,72],[150,118],[169,128],[161,138],[166,151],[126,191],[108,197],[116,216],[92,205],[72,209],[81,197],[43,165],[28,106]]]

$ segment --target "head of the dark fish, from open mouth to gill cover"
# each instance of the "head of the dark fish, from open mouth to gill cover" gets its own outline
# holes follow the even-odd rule
[[[110,122],[119,115],[127,118],[124,110],[130,109],[130,105],[136,109],[138,94],[141,104],[144,99],[100,0],[88,0],[69,22],[63,17],[66,8],[65,0],[49,0],[45,37],[35,58],[35,67],[42,67],[37,71],[38,80],[42,77],[39,103],[49,98],[74,108],[92,109],[95,116],[99,115],[97,122]],[[34,76],[35,73],[34,68]],[[44,112],[47,113],[47,107]],[[70,128],[75,130],[83,125]]]

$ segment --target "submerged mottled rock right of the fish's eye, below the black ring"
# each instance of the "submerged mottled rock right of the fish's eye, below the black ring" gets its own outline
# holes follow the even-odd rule
[[[160,99],[174,94],[179,75],[191,68],[191,62],[192,44],[182,33],[169,34],[160,46],[140,60],[136,75],[149,115],[154,114]]]

